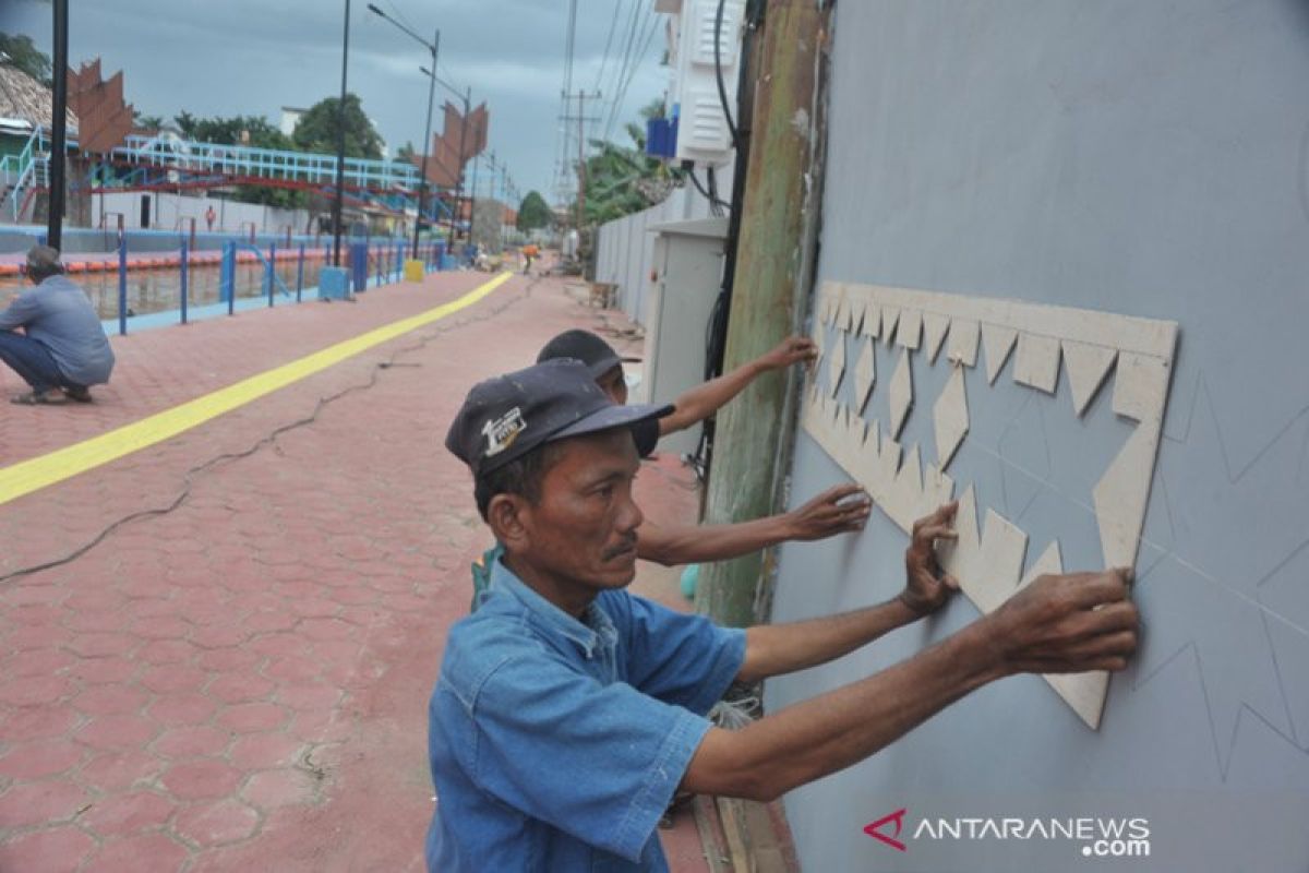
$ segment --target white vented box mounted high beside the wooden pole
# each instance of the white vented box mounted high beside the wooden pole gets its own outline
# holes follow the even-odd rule
[[[745,0],[725,0],[717,21],[719,0],[683,0],[673,20],[672,103],[677,124],[675,157],[699,166],[720,166],[732,158],[728,128],[719,94],[719,69],[728,106],[736,114],[737,76]],[[715,59],[717,43],[717,59]]]

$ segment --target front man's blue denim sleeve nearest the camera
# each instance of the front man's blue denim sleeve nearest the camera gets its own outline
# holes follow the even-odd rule
[[[473,705],[478,784],[501,802],[640,860],[709,722],[552,657],[512,657]]]

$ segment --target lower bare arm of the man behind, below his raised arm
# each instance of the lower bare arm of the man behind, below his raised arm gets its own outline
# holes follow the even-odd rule
[[[861,493],[855,484],[835,486],[788,513],[732,525],[661,527],[645,522],[636,531],[636,556],[673,567],[738,558],[792,539],[825,539],[863,530],[872,503],[859,499]]]

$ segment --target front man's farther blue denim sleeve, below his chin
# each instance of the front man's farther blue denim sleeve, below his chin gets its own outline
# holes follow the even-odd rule
[[[719,627],[626,592],[605,602],[623,630],[631,657],[627,681],[654,698],[704,715],[745,662],[745,631]],[[622,624],[620,624],[622,627]]]

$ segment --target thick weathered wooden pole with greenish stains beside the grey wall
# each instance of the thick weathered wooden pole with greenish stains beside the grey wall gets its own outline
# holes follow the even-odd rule
[[[819,52],[831,4],[770,0],[753,79],[754,110],[723,370],[795,332],[813,284],[821,213]],[[817,136],[797,118],[816,118]],[[738,157],[738,160],[741,160]],[[795,369],[795,368],[792,368]],[[789,466],[795,372],[757,378],[717,415],[707,524],[772,514]],[[721,624],[754,624],[772,558],[715,561],[700,573],[696,607]]]

